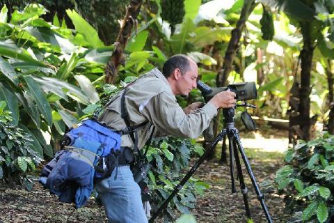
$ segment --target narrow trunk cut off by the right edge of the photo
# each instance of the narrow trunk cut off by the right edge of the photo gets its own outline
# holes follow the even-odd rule
[[[333,72],[332,72],[332,62],[328,59],[328,66],[326,68],[326,75],[328,81],[328,102],[329,108],[329,120],[328,120],[328,132],[334,134],[334,98],[333,98]]]

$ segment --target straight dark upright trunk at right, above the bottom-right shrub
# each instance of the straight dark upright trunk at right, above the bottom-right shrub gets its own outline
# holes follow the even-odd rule
[[[314,40],[312,40],[310,22],[301,22],[301,33],[303,35],[303,49],[301,50],[301,98],[299,103],[299,116],[301,118],[300,129],[302,139],[310,140],[310,93],[311,93],[311,70],[314,50]]]

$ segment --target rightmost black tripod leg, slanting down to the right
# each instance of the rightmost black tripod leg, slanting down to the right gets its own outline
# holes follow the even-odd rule
[[[262,192],[260,191],[259,186],[257,185],[257,182],[255,180],[255,176],[253,174],[253,171],[250,168],[250,164],[249,164],[248,158],[246,157],[246,153],[244,151],[244,147],[241,145],[241,140],[240,140],[239,133],[236,130],[234,130],[233,132],[234,132],[234,142],[235,142],[235,144],[237,144],[237,147],[239,148],[239,152],[240,152],[240,155],[242,157],[242,160],[244,160],[244,164],[245,164],[246,169],[248,171],[248,175],[250,176],[250,180],[252,181],[252,185],[253,185],[253,187],[255,189],[255,192],[257,194],[257,199],[261,203],[262,209],[264,210],[264,214],[267,217],[267,221],[269,223],[272,223],[273,221],[271,220],[271,217],[270,217],[267,205],[266,205],[266,203],[264,203],[264,195],[262,194]]]

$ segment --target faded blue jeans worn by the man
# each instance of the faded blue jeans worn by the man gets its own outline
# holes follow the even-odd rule
[[[118,167],[116,179],[115,175],[116,168],[109,178],[95,185],[109,222],[148,222],[141,201],[141,188],[134,181],[130,167]]]

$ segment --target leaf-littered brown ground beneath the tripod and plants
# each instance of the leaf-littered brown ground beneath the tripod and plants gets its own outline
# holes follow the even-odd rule
[[[285,204],[273,187],[276,171],[284,165],[283,152],[287,149],[287,132],[269,130],[251,134],[241,133],[250,166],[262,192],[273,222],[287,222]],[[242,164],[243,165],[243,164]],[[244,166],[244,165],[243,165]],[[267,222],[255,190],[243,167],[248,186],[248,203],[253,222]],[[236,181],[238,192],[231,193],[230,167],[210,161],[203,162],[194,176],[209,183],[211,187],[198,198],[193,215],[197,222],[247,222],[244,201]],[[57,201],[54,195],[35,183],[33,190],[10,188],[0,183],[0,223],[6,222],[107,222],[104,210],[90,199],[84,208],[75,210],[72,205]]]

